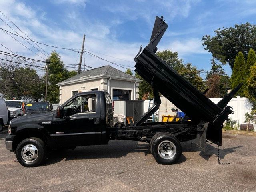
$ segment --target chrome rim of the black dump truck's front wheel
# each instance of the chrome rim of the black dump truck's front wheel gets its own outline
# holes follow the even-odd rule
[[[38,149],[32,144],[28,144],[22,148],[21,156],[28,163],[34,162],[38,158]]]

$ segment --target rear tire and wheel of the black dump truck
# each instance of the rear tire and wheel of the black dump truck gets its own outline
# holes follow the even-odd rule
[[[170,133],[160,132],[152,140],[151,152],[159,164],[173,164],[181,156],[180,141]]]

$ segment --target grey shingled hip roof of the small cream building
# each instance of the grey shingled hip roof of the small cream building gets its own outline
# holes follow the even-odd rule
[[[80,80],[83,77],[93,77],[93,76],[99,76],[99,75],[114,76],[114,77],[118,77],[118,78],[129,78],[134,81],[141,81],[139,78],[136,78],[136,77],[129,75],[125,72],[122,72],[116,68],[109,66],[109,65],[106,65],[106,66],[102,66],[99,68],[87,70],[85,72],[77,74],[76,76],[70,77],[62,82],[59,82],[58,84],[65,84],[65,82],[70,82],[70,81],[73,82],[76,80]]]

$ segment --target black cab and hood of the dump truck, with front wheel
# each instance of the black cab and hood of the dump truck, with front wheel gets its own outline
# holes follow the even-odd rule
[[[53,112],[12,120],[6,148],[16,152],[23,166],[37,166],[44,160],[47,149],[108,144],[108,130],[113,122],[112,102],[107,92],[82,92]]]

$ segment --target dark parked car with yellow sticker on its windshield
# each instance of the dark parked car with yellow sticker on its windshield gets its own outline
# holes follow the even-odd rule
[[[26,104],[24,115],[37,114],[53,111],[53,106],[49,102],[32,102]]]

